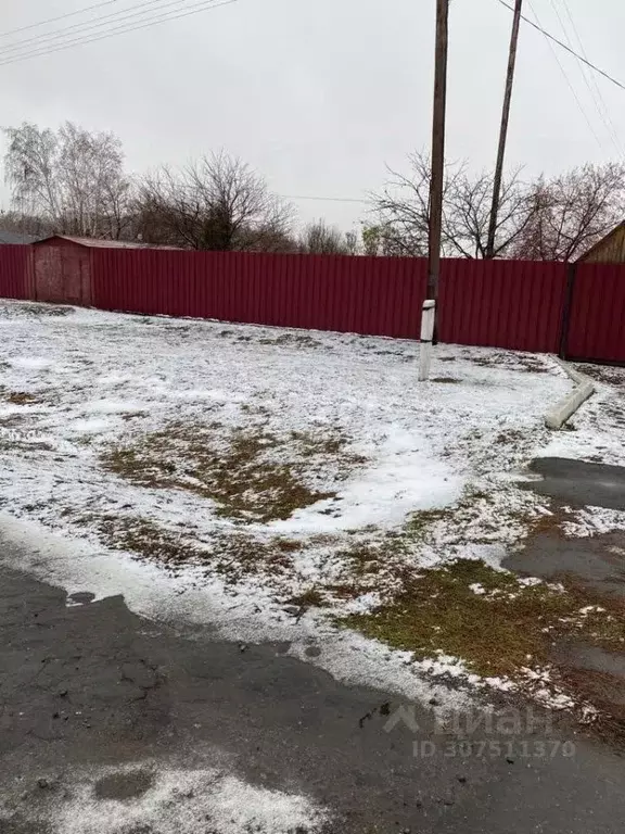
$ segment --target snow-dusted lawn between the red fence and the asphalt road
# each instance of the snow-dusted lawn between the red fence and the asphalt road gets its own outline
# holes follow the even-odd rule
[[[408,341],[17,302],[0,333],[2,529],[68,593],[429,698],[432,661],[328,612],[406,567],[498,567],[548,511],[519,484],[571,387],[545,356],[441,345],[420,384]]]

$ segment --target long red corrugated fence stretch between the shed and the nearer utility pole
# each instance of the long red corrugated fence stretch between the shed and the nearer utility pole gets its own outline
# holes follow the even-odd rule
[[[167,250],[91,251],[104,309],[416,338],[426,264],[416,258]]]

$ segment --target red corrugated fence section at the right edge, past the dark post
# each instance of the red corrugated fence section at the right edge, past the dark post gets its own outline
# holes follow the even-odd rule
[[[625,267],[576,267],[566,355],[625,362]]]

